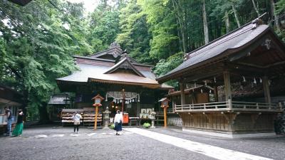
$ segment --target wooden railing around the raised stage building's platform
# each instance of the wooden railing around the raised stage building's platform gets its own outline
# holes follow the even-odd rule
[[[260,102],[210,102],[191,105],[175,105],[175,112],[199,112],[199,111],[222,111],[222,110],[245,110],[245,111],[282,111],[281,103],[260,103]]]

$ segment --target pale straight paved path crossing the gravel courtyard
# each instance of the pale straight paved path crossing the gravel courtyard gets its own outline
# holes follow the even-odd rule
[[[140,134],[151,139],[155,139],[166,144],[172,144],[178,146],[182,149],[187,149],[188,151],[193,151],[199,154],[204,154],[206,156],[213,157],[214,159],[221,160],[273,160],[262,156],[255,156],[252,154],[246,154],[239,151],[234,151],[230,149],[223,149],[219,146],[211,146],[209,144],[202,144],[199,142],[192,142],[187,139],[180,139],[177,137],[172,137],[166,134],[160,134],[156,132],[147,131],[145,129],[138,128],[125,128],[128,132],[134,132],[135,134]]]

